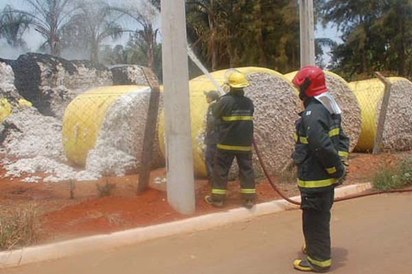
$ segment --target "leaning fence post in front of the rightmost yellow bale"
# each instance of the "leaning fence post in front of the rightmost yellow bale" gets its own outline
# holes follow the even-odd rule
[[[391,82],[389,82],[388,79],[386,79],[380,73],[376,72],[374,74],[385,85],[385,92],[383,95],[382,104],[380,105],[378,127],[376,128],[374,151],[372,152],[373,154],[379,154],[380,153],[380,143],[382,142],[383,128],[385,127],[385,119],[386,119],[388,105],[389,105],[389,98],[391,97],[392,84]]]

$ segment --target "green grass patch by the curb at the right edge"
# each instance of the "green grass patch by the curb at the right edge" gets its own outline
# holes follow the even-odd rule
[[[405,158],[396,166],[380,169],[373,180],[377,190],[390,190],[412,186],[412,158]]]

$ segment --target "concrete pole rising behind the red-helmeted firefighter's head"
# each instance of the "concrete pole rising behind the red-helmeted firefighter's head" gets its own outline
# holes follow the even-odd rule
[[[314,66],[313,0],[299,0],[301,66]]]

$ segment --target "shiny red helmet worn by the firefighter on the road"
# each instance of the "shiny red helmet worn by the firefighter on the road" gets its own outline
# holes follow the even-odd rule
[[[325,84],[325,73],[317,66],[301,68],[293,77],[292,83],[299,86],[300,91],[308,97],[314,97],[328,91]]]

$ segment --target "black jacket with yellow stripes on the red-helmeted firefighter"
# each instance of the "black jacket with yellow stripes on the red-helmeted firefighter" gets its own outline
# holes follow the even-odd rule
[[[305,101],[305,110],[300,115],[293,153],[299,189],[318,192],[332,188],[345,174],[342,160],[349,155],[349,138],[341,127],[341,115],[330,114],[314,98]]]

